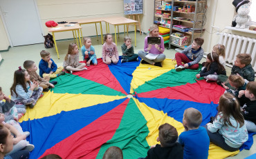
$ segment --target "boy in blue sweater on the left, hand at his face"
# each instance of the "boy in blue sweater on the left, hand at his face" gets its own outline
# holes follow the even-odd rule
[[[39,62],[39,75],[41,77],[50,76],[50,78],[56,78],[57,76],[65,74],[63,71],[64,68],[62,66],[57,67],[53,59],[51,59],[50,52],[42,50],[40,56],[42,57]]]

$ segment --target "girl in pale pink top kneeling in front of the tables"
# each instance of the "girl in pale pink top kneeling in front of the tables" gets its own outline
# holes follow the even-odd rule
[[[119,61],[118,48],[116,43],[113,43],[112,35],[106,34],[104,36],[105,43],[102,45],[102,61],[107,65],[113,63],[117,64]]]

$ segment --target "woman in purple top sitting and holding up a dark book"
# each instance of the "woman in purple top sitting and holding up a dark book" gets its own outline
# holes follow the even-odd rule
[[[158,25],[151,25],[149,36],[145,37],[144,51],[138,52],[138,56],[143,59],[141,63],[162,67],[161,62],[165,60],[164,51],[163,37],[159,35]]]

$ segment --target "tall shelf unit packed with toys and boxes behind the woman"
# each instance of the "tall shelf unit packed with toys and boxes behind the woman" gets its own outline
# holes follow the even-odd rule
[[[170,30],[169,47],[185,48],[204,32],[207,0],[155,0],[154,23]]]

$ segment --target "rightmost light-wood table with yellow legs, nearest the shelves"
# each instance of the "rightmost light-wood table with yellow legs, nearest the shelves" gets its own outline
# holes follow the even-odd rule
[[[124,25],[124,28],[125,28],[125,25],[127,25],[127,34],[128,34],[128,25],[129,24],[134,24],[134,36],[135,36],[135,47],[136,47],[136,23],[138,23],[138,21],[134,21],[132,19],[127,19],[125,17],[109,17],[109,18],[104,18],[104,21],[106,23],[108,23],[108,27],[109,27],[109,23],[111,25],[114,25],[115,27],[115,38],[116,38],[116,25]],[[107,25],[106,25],[107,27]],[[119,29],[118,29],[118,36],[119,36]],[[117,41],[116,41],[116,44],[117,44]]]

